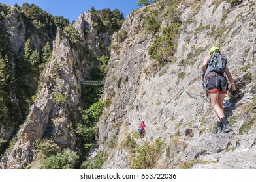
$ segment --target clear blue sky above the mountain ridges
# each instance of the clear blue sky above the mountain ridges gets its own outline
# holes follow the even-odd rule
[[[53,16],[64,16],[70,22],[76,20],[82,12],[87,12],[94,6],[95,10],[110,8],[110,10],[118,9],[126,17],[127,14],[140,8],[137,5],[138,0],[0,0],[0,3],[13,6],[17,3],[22,6],[23,3],[34,3],[35,5],[46,10]]]

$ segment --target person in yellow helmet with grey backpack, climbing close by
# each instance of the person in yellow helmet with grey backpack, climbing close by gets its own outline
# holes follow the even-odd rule
[[[202,63],[202,79],[203,88],[208,92],[212,106],[217,115],[217,127],[215,133],[228,133],[233,131],[223,110],[223,101],[227,94],[228,83],[227,75],[231,87],[232,95],[236,98],[238,92],[232,78],[229,68],[227,67],[227,58],[221,55],[219,47],[212,47],[209,50],[208,56],[204,58]],[[223,124],[223,129],[221,128]]]

